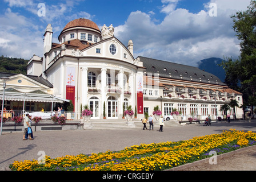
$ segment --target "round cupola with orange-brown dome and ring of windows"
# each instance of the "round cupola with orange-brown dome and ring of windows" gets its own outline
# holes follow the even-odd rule
[[[59,34],[59,42],[79,39],[90,43],[97,43],[101,40],[101,31],[96,23],[89,19],[79,18],[67,23]]]

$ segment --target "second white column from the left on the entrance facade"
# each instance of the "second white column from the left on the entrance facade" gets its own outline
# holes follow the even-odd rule
[[[107,115],[107,98],[106,98],[106,86],[107,86],[107,69],[101,69],[101,118],[103,118],[103,106],[105,101],[105,111]]]

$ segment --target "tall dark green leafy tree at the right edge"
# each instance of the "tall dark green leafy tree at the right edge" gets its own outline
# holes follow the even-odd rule
[[[241,55],[237,60],[228,57],[222,62],[225,82],[230,88],[243,93],[243,100],[253,105],[256,96],[256,1],[251,0],[246,11],[231,16],[234,31],[241,42]],[[252,97],[249,99],[249,97]]]

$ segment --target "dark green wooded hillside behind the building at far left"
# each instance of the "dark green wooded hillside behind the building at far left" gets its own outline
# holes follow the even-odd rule
[[[14,57],[0,57],[0,72],[27,74],[27,63],[29,60]]]

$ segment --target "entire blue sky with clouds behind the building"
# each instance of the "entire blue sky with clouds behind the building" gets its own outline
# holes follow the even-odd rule
[[[39,17],[38,3],[46,6]],[[210,16],[214,3],[217,16]],[[30,59],[42,56],[48,23],[59,32],[73,19],[93,20],[99,28],[113,24],[123,44],[134,43],[134,57],[146,56],[197,65],[209,57],[239,55],[231,14],[246,10],[250,0],[3,0],[0,1],[0,55]]]

